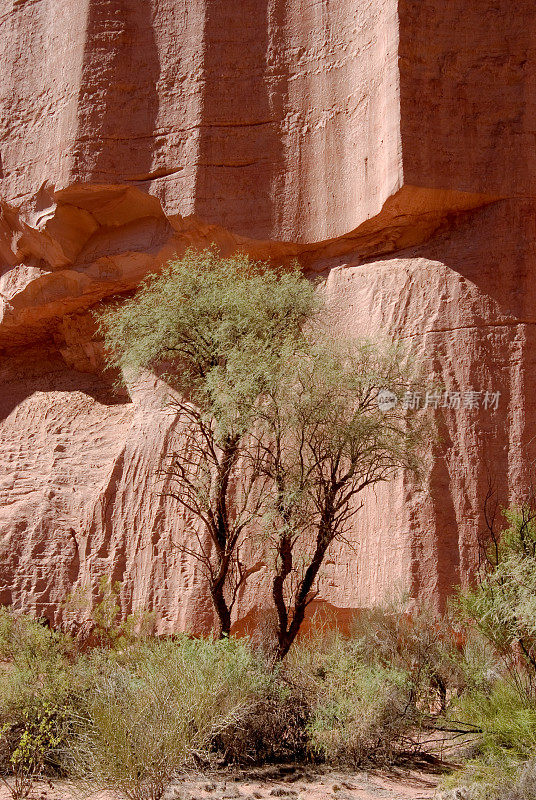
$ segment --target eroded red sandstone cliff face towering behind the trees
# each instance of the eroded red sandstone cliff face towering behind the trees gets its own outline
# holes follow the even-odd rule
[[[216,242],[327,282],[334,325],[411,342],[449,391],[423,486],[367,498],[324,601],[441,604],[487,476],[534,460],[536,9],[529,0],[10,0],[0,14],[0,602],[58,621],[108,574],[125,611],[207,630],[158,497],[153,376],[118,394],[91,308]],[[240,598],[262,605],[268,570]]]

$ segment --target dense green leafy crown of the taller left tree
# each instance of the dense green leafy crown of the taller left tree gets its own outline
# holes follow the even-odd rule
[[[297,268],[189,250],[99,321],[115,367],[126,375],[165,370],[169,385],[210,409],[225,435],[247,427],[283,344],[301,338],[320,308]]]

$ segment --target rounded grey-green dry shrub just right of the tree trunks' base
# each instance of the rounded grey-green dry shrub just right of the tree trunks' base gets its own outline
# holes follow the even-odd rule
[[[327,761],[389,763],[466,684],[463,633],[448,618],[402,602],[362,610],[347,636],[320,628],[287,659],[308,698],[310,748]]]

